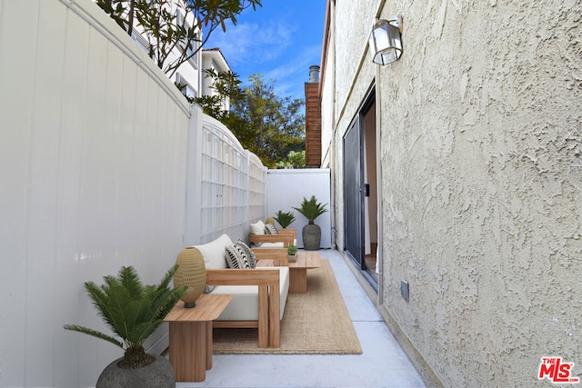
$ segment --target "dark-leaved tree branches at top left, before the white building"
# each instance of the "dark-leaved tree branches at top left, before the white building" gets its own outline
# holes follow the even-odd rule
[[[261,0],[95,0],[129,35],[134,25],[145,33],[147,51],[156,65],[172,76],[193,58],[208,37]],[[200,42],[200,45],[196,45]],[[176,57],[172,53],[177,53]]]

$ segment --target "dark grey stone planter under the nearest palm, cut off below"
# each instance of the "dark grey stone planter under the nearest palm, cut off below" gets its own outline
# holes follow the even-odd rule
[[[176,388],[176,377],[172,364],[166,357],[150,354],[156,358],[142,368],[121,369],[117,366],[123,357],[105,367],[95,388]]]

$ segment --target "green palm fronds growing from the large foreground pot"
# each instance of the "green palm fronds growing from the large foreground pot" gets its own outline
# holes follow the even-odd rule
[[[64,328],[93,335],[124,349],[124,360],[119,363],[121,368],[153,363],[154,357],[146,354],[144,342],[186,293],[186,285],[168,287],[177,268],[175,265],[169,269],[159,285],[143,285],[132,266],[121,267],[117,277],[104,276],[105,284],[85,282],[85,290],[98,314],[123,342],[85,326],[65,324]]]

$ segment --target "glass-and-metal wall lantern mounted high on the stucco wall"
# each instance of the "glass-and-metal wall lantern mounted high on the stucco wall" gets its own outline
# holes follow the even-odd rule
[[[370,34],[370,52],[374,63],[387,65],[402,56],[402,15],[394,20],[381,19],[376,22]]]

